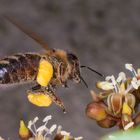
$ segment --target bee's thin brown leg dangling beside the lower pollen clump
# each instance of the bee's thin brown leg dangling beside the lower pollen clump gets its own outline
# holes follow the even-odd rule
[[[61,107],[63,109],[63,112],[64,113],[66,113],[66,109],[65,109],[64,103],[61,101],[61,99],[58,96],[56,96],[56,94],[55,94],[55,88],[53,86],[49,85],[46,88],[45,93],[50,96],[50,98],[52,99],[52,101],[56,105],[58,105],[59,107]]]

